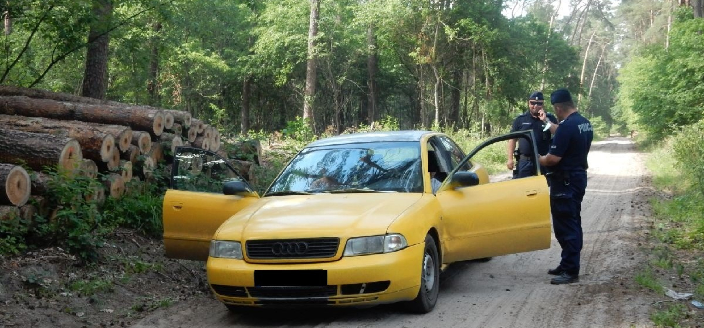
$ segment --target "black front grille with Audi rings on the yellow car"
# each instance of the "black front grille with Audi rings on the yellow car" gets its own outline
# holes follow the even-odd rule
[[[247,256],[255,259],[329,258],[337,254],[339,238],[248,240]]]

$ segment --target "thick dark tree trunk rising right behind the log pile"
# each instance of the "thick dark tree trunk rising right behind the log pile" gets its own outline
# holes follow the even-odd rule
[[[93,0],[93,15],[81,96],[103,99],[108,84],[108,29],[112,25],[113,1]]]

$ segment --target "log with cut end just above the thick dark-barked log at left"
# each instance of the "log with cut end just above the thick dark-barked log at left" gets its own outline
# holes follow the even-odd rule
[[[61,121],[41,117],[24,117],[0,114],[0,129],[47,133],[52,136],[74,138],[81,145],[84,158],[105,162],[115,147],[115,137],[108,131],[101,131],[79,121]],[[127,128],[130,129],[130,128]]]

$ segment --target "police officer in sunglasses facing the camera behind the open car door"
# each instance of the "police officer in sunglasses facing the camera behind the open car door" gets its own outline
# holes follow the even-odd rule
[[[542,92],[534,91],[531,93],[528,97],[528,110],[523,114],[518,115],[513,120],[513,127],[511,128],[511,132],[533,130],[533,133],[537,139],[536,144],[540,155],[545,155],[548,153],[550,140],[553,136],[551,130],[545,129],[546,122],[551,122],[552,124],[558,123],[558,120],[555,119],[553,114],[548,114],[543,110],[543,103],[544,100]],[[541,117],[546,117],[545,122],[543,122]],[[537,171],[535,168],[535,155],[533,154],[533,147],[530,145],[528,140],[520,138],[518,139],[518,150],[516,151],[516,140],[517,139],[508,140],[508,150],[506,152],[508,160],[506,162],[506,167],[513,170],[513,178],[535,176]],[[545,173],[545,169],[541,168],[541,172]]]

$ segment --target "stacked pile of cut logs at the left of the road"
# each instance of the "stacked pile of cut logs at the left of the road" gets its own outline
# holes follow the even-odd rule
[[[189,112],[0,86],[0,219],[46,210],[32,204],[45,203],[47,167],[68,176],[103,173],[105,189],[90,195],[101,201],[106,194],[119,198],[133,177],[148,179],[156,165],[168,165],[180,145],[228,158],[218,129]],[[251,162],[231,162],[251,178]]]

